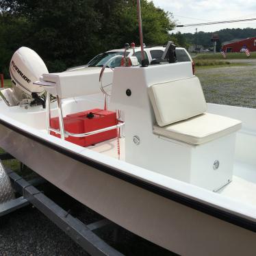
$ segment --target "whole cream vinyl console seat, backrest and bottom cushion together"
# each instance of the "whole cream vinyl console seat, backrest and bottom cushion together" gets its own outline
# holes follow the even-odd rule
[[[188,144],[204,144],[238,131],[240,120],[206,113],[207,105],[197,77],[155,84],[149,98],[157,125],[153,132]]]

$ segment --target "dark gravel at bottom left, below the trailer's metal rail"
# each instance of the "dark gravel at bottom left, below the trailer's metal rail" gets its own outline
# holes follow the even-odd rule
[[[0,255],[88,255],[37,209],[0,218]]]

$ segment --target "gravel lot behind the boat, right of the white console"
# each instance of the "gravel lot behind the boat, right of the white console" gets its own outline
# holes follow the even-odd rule
[[[256,107],[256,60],[232,60],[246,66],[197,68],[209,103]]]

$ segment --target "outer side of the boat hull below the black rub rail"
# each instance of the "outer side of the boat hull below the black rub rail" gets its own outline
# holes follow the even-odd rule
[[[205,214],[175,202],[175,196],[171,200],[146,190],[146,183],[142,188],[92,168],[47,142],[29,138],[25,131],[22,134],[1,124],[0,134],[5,151],[95,212],[146,240],[181,255],[255,255],[256,233],[214,217],[214,209],[213,214]]]

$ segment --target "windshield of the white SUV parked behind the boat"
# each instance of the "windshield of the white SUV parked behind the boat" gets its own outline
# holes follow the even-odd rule
[[[90,61],[89,66],[104,66],[112,57],[123,54],[124,51],[111,51],[107,53],[101,53]],[[127,52],[127,55],[128,54],[129,52]],[[108,66],[110,66],[111,68],[115,68],[116,66],[120,66],[120,64],[121,57],[117,57],[110,64],[108,64]]]

